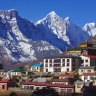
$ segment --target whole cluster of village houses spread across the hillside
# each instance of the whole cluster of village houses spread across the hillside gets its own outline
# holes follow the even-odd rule
[[[51,87],[58,93],[82,93],[84,86],[96,86],[96,48],[84,42],[78,47],[67,49],[63,56],[46,57],[43,63],[32,65],[28,70],[21,68],[0,72],[2,77],[7,78],[0,81],[0,89],[15,86],[15,82],[9,78],[22,77],[22,73],[28,75],[29,72],[52,73],[52,76],[49,80],[45,76],[22,82],[23,89],[34,91]],[[54,77],[54,73],[60,74]]]

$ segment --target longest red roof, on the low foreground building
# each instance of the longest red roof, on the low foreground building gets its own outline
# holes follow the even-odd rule
[[[50,83],[37,83],[37,82],[23,82],[23,85],[36,85],[36,86],[49,86],[49,87],[62,87],[72,88],[74,85],[63,85],[63,84],[50,84]]]

